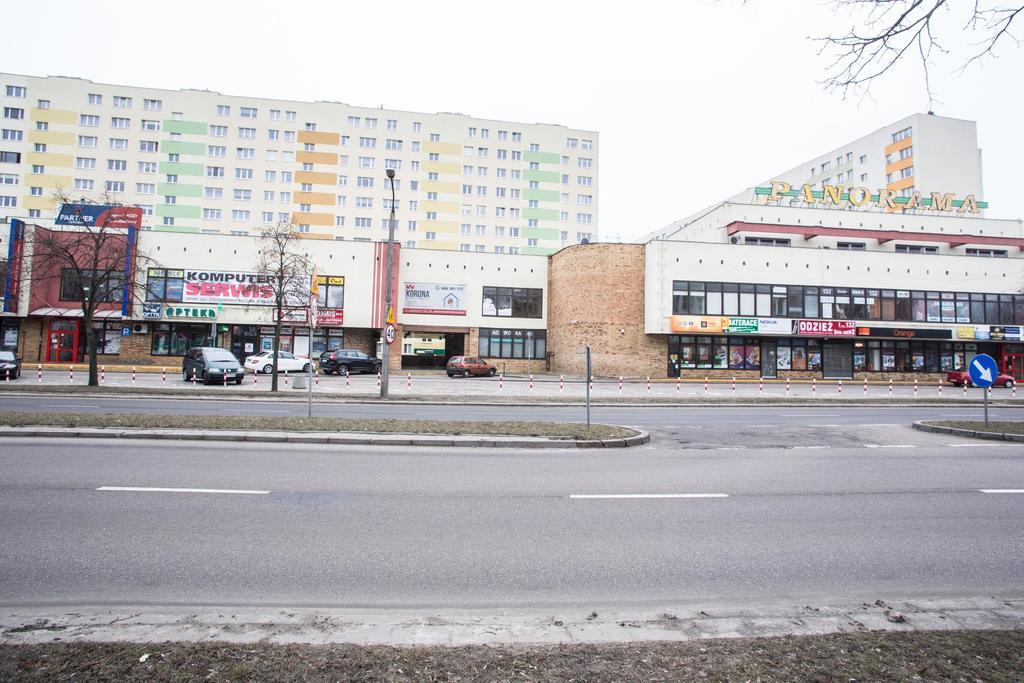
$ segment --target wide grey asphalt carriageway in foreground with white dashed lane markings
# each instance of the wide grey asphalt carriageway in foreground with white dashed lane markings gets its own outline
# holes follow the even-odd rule
[[[776,427],[785,447],[684,431],[586,452],[4,439],[0,604],[1024,593],[1024,494],[981,492],[1024,489],[1020,445],[905,426]]]

